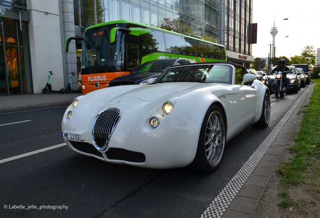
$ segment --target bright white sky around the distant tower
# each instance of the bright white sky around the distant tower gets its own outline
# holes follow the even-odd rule
[[[268,58],[274,21],[276,57],[299,56],[306,45],[320,48],[319,0],[254,0],[253,4],[253,23],[258,24],[257,44],[252,47],[255,58]]]

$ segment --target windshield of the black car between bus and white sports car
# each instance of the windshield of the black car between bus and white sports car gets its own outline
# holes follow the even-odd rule
[[[155,60],[146,62],[131,71],[134,73],[143,73],[143,72],[164,72],[167,68],[172,66],[175,63],[176,59],[164,59],[164,60]]]

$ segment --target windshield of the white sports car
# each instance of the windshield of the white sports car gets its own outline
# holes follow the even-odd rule
[[[232,68],[226,65],[181,66],[170,68],[153,83],[198,82],[232,83]]]

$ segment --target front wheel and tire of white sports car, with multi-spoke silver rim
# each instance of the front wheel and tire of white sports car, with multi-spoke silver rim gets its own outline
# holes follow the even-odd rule
[[[225,118],[221,108],[211,105],[201,126],[196,156],[190,167],[200,172],[218,169],[225,145]]]

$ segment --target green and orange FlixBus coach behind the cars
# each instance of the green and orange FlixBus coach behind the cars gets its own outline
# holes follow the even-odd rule
[[[187,58],[196,62],[226,61],[223,45],[129,20],[88,27],[83,37],[66,39],[66,51],[73,39],[83,40],[83,94],[106,88],[112,79],[127,75],[136,66],[152,60]]]

